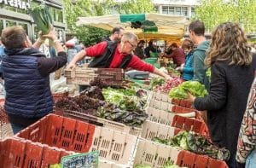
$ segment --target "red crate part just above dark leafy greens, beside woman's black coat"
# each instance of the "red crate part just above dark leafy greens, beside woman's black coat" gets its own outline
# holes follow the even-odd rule
[[[192,130],[203,136],[209,136],[207,125],[198,119],[189,119],[183,116],[175,115],[172,120],[172,126],[183,130]]]

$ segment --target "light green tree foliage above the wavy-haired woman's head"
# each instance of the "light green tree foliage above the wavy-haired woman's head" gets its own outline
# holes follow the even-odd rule
[[[208,32],[225,21],[234,21],[250,33],[256,31],[255,11],[255,0],[201,0],[194,20],[203,21]]]

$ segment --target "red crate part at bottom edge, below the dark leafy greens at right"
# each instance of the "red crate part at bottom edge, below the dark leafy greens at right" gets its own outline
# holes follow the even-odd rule
[[[224,161],[184,150],[177,157],[177,165],[193,168],[228,168]]]

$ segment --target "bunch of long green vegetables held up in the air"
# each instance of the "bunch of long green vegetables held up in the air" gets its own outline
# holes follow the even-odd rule
[[[30,10],[30,14],[32,15],[39,31],[42,31],[42,34],[48,34],[50,26],[53,25],[53,19],[51,14],[49,14],[49,9],[46,5],[41,4],[33,7]]]

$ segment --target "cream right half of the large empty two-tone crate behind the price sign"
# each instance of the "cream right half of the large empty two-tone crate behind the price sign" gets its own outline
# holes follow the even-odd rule
[[[90,151],[99,151],[100,159],[119,167],[130,167],[137,147],[137,136],[96,126]]]

